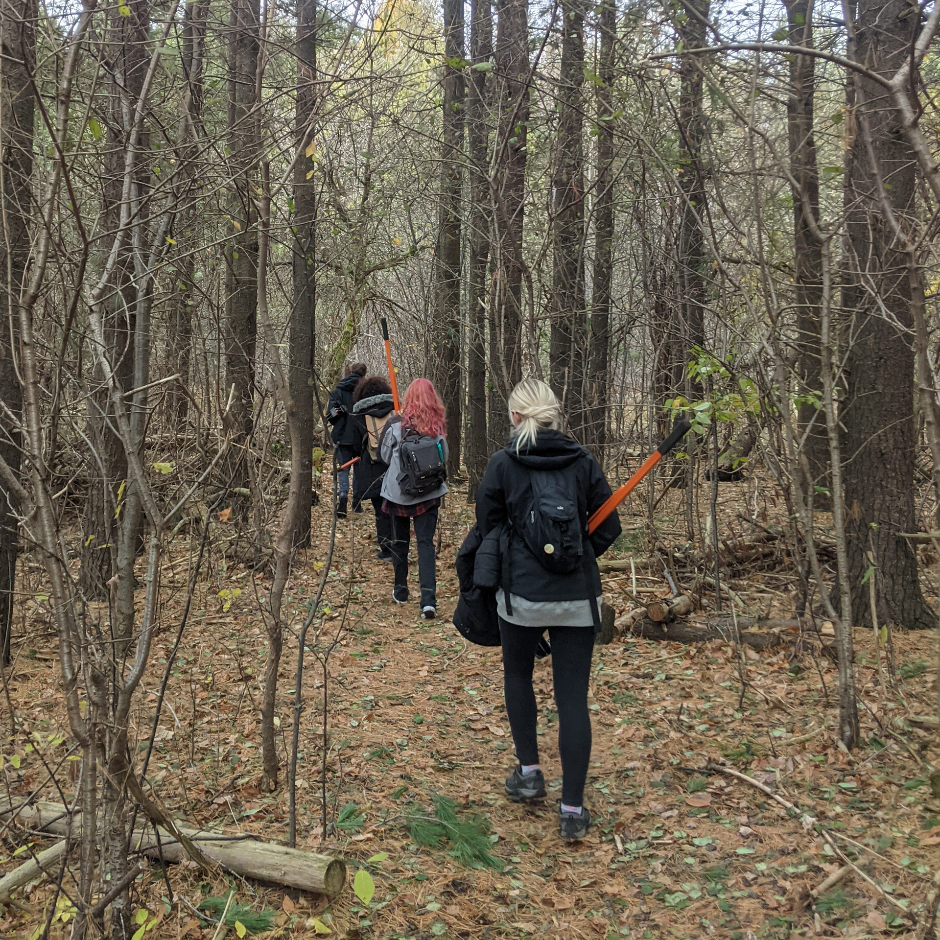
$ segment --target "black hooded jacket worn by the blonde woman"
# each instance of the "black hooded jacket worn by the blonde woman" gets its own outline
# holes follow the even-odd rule
[[[610,495],[603,470],[584,447],[561,431],[541,430],[533,446],[516,453],[515,442],[496,451],[477,491],[477,525],[480,538],[497,525],[519,519],[531,499],[532,470],[560,471],[573,482],[578,509],[587,528],[587,517],[600,509]],[[620,520],[612,512],[593,535],[585,539],[585,564],[567,574],[544,568],[529,551],[525,540],[510,535],[503,557],[500,587],[527,601],[585,601],[601,594],[601,574],[596,558],[620,534]]]

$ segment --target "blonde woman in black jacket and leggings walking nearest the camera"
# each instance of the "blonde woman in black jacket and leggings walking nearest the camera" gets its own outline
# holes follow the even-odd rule
[[[509,533],[503,541],[496,606],[506,711],[519,766],[506,781],[506,791],[516,801],[545,795],[532,668],[547,628],[563,775],[559,823],[562,838],[573,841],[584,838],[590,825],[583,796],[591,746],[587,682],[601,604],[596,558],[617,539],[620,522],[614,512],[587,536],[587,518],[610,495],[610,487],[594,458],[561,431],[561,406],[548,385],[538,379],[516,385],[509,396],[509,416],[513,425],[509,445],[493,454],[477,492],[481,536],[497,526],[504,526]],[[570,572],[549,571],[525,538],[527,517],[532,515],[534,520],[538,507],[544,506],[534,498],[534,488],[542,493],[549,484],[556,487],[555,493],[571,493],[576,500],[583,556]],[[545,507],[549,514],[550,509]],[[546,553],[556,551],[548,543],[543,549]]]

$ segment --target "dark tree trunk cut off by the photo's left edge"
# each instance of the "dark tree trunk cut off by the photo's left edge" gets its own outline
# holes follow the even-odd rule
[[[16,372],[20,335],[19,303],[29,260],[29,220],[35,214],[30,178],[33,172],[33,126],[36,101],[30,76],[36,67],[36,6],[33,0],[0,2],[0,151],[3,160],[0,241],[0,303],[6,324],[0,337],[0,400],[8,413],[23,411],[23,390]],[[0,417],[0,456],[20,474],[20,432],[5,411]],[[19,532],[15,516],[19,500],[0,483],[0,655],[9,662],[13,618],[13,586]]]

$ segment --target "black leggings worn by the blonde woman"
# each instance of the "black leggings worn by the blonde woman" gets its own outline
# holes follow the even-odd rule
[[[542,631],[500,618],[499,633],[503,640],[506,712],[516,757],[523,764],[538,763],[539,709],[532,689],[532,666]],[[580,807],[590,760],[587,681],[594,651],[594,631],[590,627],[549,627],[548,634],[552,641],[552,674],[558,709],[558,754],[563,775],[561,802],[569,807]]]

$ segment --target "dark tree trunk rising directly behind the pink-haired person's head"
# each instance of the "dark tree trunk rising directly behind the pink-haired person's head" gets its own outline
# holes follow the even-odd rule
[[[434,374],[447,409],[450,473],[461,467],[461,190],[463,182],[463,3],[444,0],[441,197],[434,256]]]

